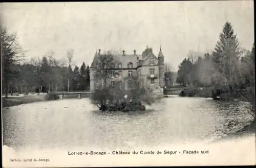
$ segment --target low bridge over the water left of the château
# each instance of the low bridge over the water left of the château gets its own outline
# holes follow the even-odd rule
[[[53,93],[57,94],[60,99],[66,98],[74,98],[78,97],[78,99],[82,98],[82,95],[86,95],[86,97],[90,96],[93,92],[91,91],[54,91]]]

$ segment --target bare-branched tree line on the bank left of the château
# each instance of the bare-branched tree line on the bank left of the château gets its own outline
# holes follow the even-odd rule
[[[74,51],[67,51],[65,60],[54,58],[53,51],[24,60],[24,52],[15,34],[1,28],[2,92],[49,92],[90,89],[90,67],[84,62],[72,69]]]

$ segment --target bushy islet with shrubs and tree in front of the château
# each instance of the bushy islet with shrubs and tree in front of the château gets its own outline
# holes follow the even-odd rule
[[[102,54],[97,58],[95,67],[95,77],[97,79],[97,89],[92,95],[92,102],[100,110],[145,110],[145,104],[155,102],[151,89],[140,88],[137,77],[129,77],[133,82],[132,89],[124,90],[118,83],[111,83],[113,68],[117,62],[111,54]]]

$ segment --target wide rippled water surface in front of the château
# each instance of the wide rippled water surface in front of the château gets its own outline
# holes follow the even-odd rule
[[[36,102],[3,109],[4,145],[26,148],[129,149],[208,142],[252,121],[247,102],[164,98],[143,112],[100,112],[89,99]]]

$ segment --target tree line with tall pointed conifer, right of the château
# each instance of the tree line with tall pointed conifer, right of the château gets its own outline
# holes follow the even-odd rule
[[[177,83],[233,92],[254,87],[254,43],[240,48],[231,23],[226,22],[212,53],[191,53],[179,65]]]

